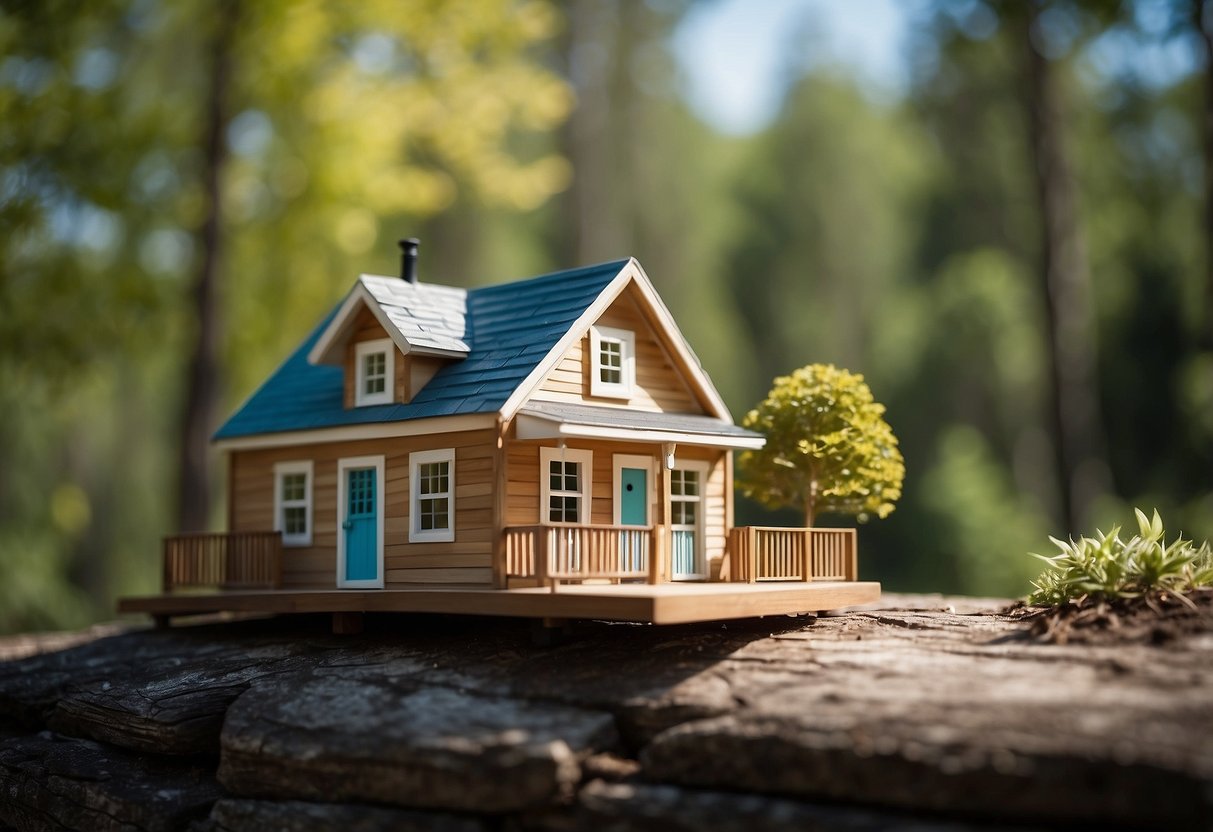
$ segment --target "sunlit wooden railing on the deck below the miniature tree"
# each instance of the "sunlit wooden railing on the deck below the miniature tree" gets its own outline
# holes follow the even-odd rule
[[[740,526],[729,531],[730,580],[854,581],[854,529]]]

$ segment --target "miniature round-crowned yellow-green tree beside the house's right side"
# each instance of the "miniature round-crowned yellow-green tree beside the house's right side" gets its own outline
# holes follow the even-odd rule
[[[775,380],[745,427],[767,435],[759,451],[741,455],[742,494],[770,508],[884,518],[901,496],[905,461],[864,376],[810,364]]]

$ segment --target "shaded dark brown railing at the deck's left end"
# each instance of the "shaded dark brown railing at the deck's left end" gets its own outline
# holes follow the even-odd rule
[[[197,532],[164,538],[164,591],[273,589],[283,585],[278,531]]]

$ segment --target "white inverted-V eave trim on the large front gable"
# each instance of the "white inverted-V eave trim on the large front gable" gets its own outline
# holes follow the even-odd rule
[[[707,399],[708,409],[712,416],[724,420],[729,424],[733,424],[733,415],[729,412],[729,408],[724,404],[724,399],[721,398],[719,392],[712,384],[712,380],[707,377],[704,372],[702,365],[699,363],[699,358],[691,352],[690,346],[687,343],[687,338],[683,336],[682,330],[674,323],[673,315],[670,314],[670,309],[666,304],[661,302],[657,296],[657,291],[653,287],[653,283],[649,280],[649,275],[644,273],[640,268],[640,263],[637,262],[636,257],[630,257],[627,263],[620,269],[620,273],[606,284],[606,287],[598,295],[593,303],[591,303],[581,317],[569,327],[569,331],[557,342],[557,344],[543,357],[530,375],[514,389],[513,394],[501,405],[501,418],[503,422],[508,422],[518,412],[518,409],[526,403],[535,389],[543,382],[543,378],[556,367],[557,363],[564,357],[569,348],[579,342],[585,334],[590,330],[591,325],[606,309],[611,303],[615,302],[623,290],[632,281],[636,281],[637,289],[649,302],[649,306],[656,313],[657,323],[665,330],[667,341],[673,351],[677,353],[682,364],[684,364],[690,372],[691,382],[697,392]]]

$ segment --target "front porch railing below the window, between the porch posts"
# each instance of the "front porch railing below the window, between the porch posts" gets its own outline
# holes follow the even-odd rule
[[[506,529],[506,574],[543,585],[649,575],[653,529],[602,525],[512,526]]]

